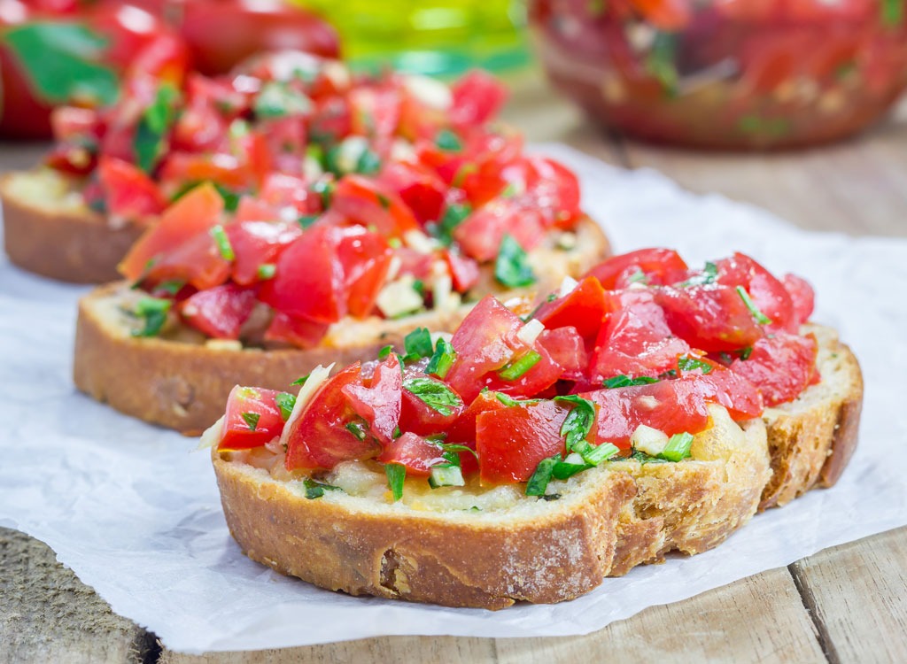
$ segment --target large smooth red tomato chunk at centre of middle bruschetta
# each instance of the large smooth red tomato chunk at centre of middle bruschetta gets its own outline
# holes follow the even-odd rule
[[[262,302],[288,314],[319,323],[346,316],[343,265],[338,258],[342,229],[313,226],[284,249],[274,278],[258,294]]]

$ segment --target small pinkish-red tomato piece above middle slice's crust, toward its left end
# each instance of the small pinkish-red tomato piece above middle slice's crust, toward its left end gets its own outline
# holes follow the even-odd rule
[[[238,339],[239,328],[255,307],[255,291],[236,284],[200,290],[180,304],[183,320],[209,337]]]

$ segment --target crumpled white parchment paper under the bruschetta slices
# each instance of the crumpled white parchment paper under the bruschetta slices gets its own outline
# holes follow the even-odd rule
[[[47,542],[112,609],[171,649],[266,649],[391,634],[568,636],[599,630],[907,523],[907,241],[795,229],[763,210],[695,196],[653,171],[621,171],[563,146],[540,148],[580,175],[584,204],[619,251],[674,247],[696,264],[742,250],[817,292],[866,382],[861,443],[834,489],[757,515],[716,550],[607,579],[578,600],[498,612],[322,591],[249,561],[229,536],[207,452],[73,387],[76,299],[87,288],[0,258],[0,525]],[[892,297],[893,296],[893,297]]]

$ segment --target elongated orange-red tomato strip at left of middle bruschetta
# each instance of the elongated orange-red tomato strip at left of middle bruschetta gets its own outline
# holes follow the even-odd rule
[[[164,210],[157,225],[145,231],[132,245],[119,265],[120,273],[131,281],[140,278],[151,259],[179,247],[200,233],[207,234],[220,222],[223,209],[223,199],[210,184],[191,190]]]

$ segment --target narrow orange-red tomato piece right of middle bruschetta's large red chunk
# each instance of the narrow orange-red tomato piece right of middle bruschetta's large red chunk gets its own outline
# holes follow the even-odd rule
[[[343,229],[337,258],[343,266],[350,316],[369,316],[375,310],[375,299],[384,288],[394,258],[387,239],[361,226]]]

